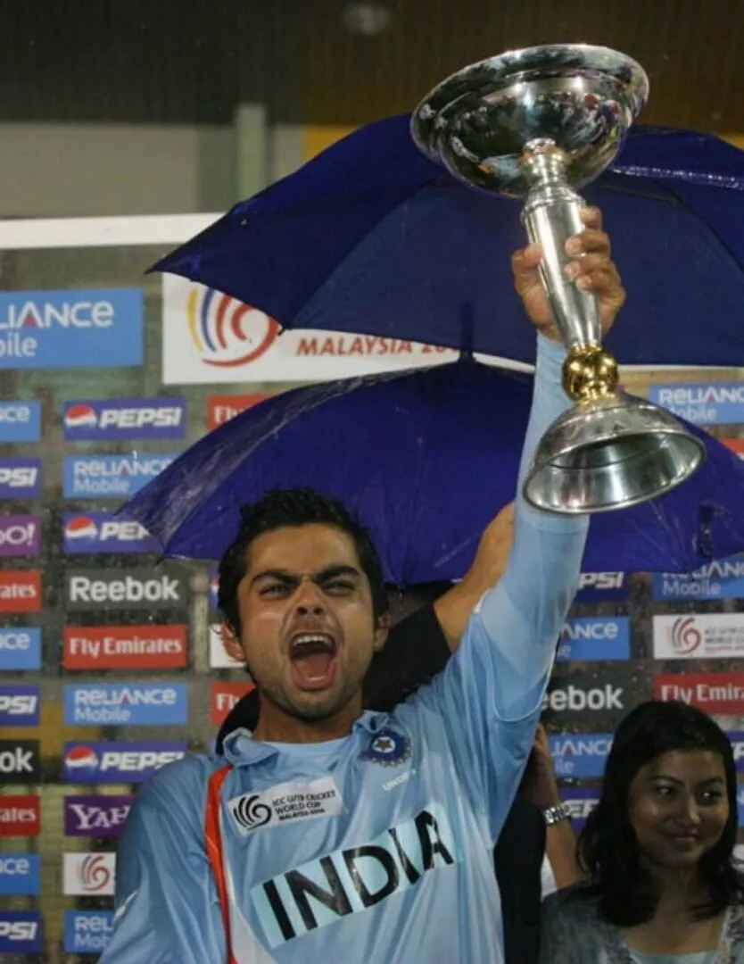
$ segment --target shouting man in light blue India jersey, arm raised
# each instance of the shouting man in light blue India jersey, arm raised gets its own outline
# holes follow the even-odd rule
[[[606,329],[624,292],[598,213],[585,223],[567,244],[567,274],[597,293]],[[541,256],[530,246],[513,261],[540,332],[520,478],[569,404]],[[220,604],[226,647],[258,689],[258,725],[228,737],[224,758],[174,763],[138,794],[102,962],[498,964],[490,850],[532,745],[586,533],[586,519],[518,496],[507,572],[446,669],[392,714],[362,713],[388,624],[366,532],[307,492],[246,510],[221,563]]]

